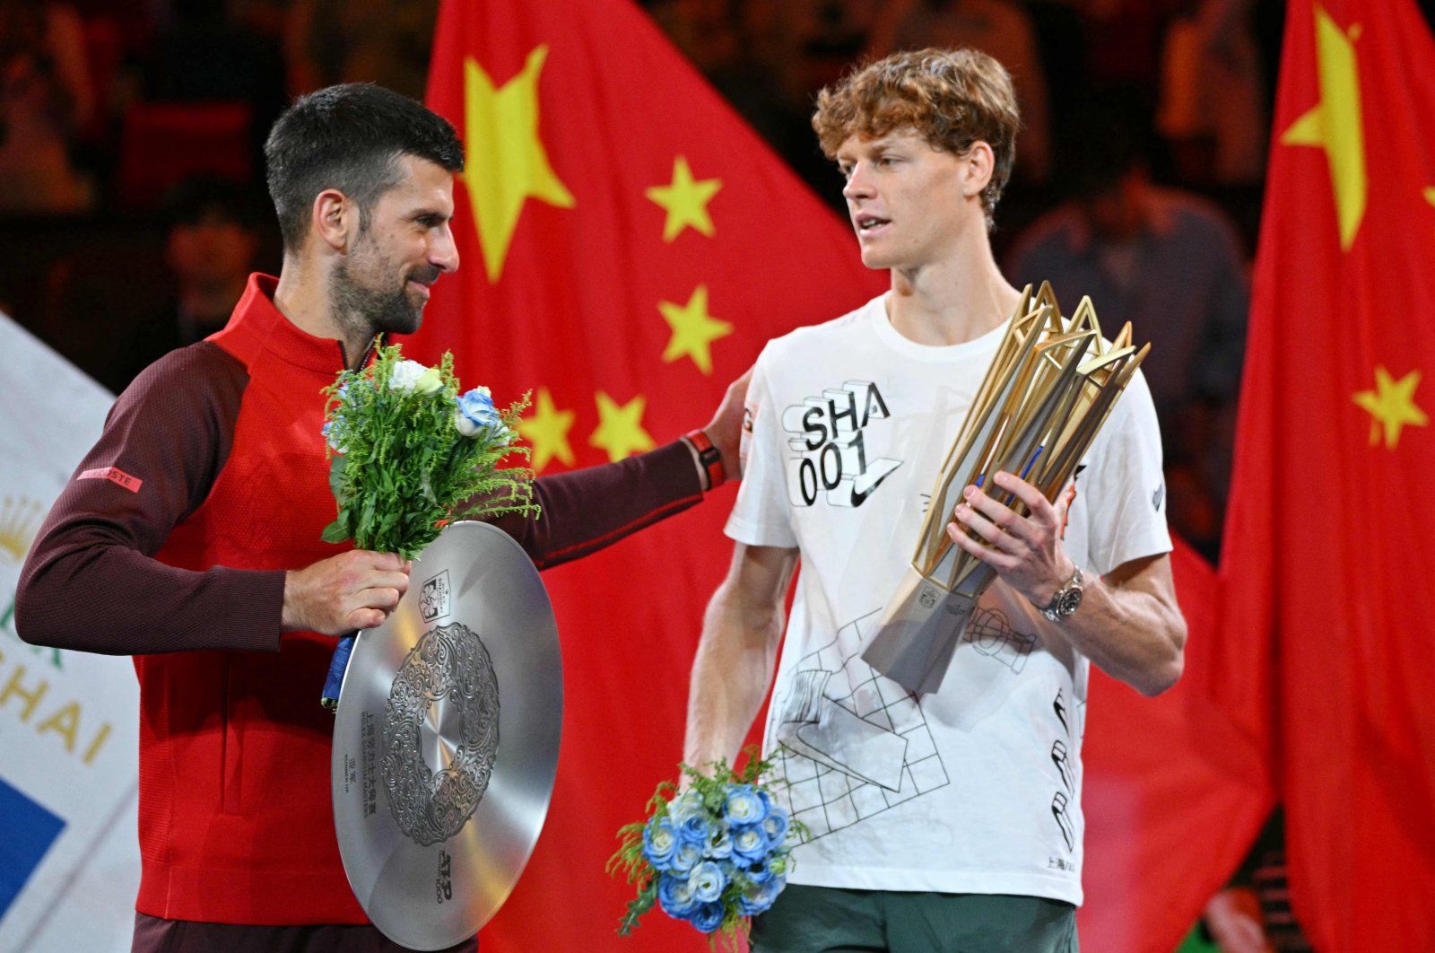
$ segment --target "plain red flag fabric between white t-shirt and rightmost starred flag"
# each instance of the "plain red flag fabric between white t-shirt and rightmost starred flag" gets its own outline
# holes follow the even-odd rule
[[[1185,675],[1142,698],[1091,672],[1082,758],[1086,903],[1082,947],[1171,953],[1220,890],[1266,815],[1264,751],[1203,690],[1223,633],[1215,571],[1175,540],[1171,570],[1187,623]]]

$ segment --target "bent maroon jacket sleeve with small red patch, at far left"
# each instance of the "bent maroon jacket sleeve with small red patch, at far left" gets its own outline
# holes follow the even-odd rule
[[[238,360],[201,343],[121,395],[20,573],[22,639],[105,654],[278,650],[283,571],[195,573],[152,558],[224,468],[247,383]]]

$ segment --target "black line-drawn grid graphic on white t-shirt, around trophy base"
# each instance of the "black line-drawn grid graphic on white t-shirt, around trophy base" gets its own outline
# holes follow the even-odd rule
[[[818,838],[951,782],[916,696],[862,662],[881,610],[798,660],[778,712],[775,778],[788,814]],[[977,610],[966,642],[1019,675],[1036,637]]]

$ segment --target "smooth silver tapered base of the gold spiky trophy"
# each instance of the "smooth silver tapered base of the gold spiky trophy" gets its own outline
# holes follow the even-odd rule
[[[908,567],[883,610],[862,660],[914,695],[931,695],[971,619],[976,598],[951,593]]]

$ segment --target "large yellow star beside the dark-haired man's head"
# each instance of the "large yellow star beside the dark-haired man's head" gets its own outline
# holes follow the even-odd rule
[[[538,138],[538,75],[548,47],[528,55],[518,76],[494,86],[478,60],[464,60],[464,139],[468,185],[488,280],[498,281],[528,197],[573,208],[573,194],[558,181]]]

